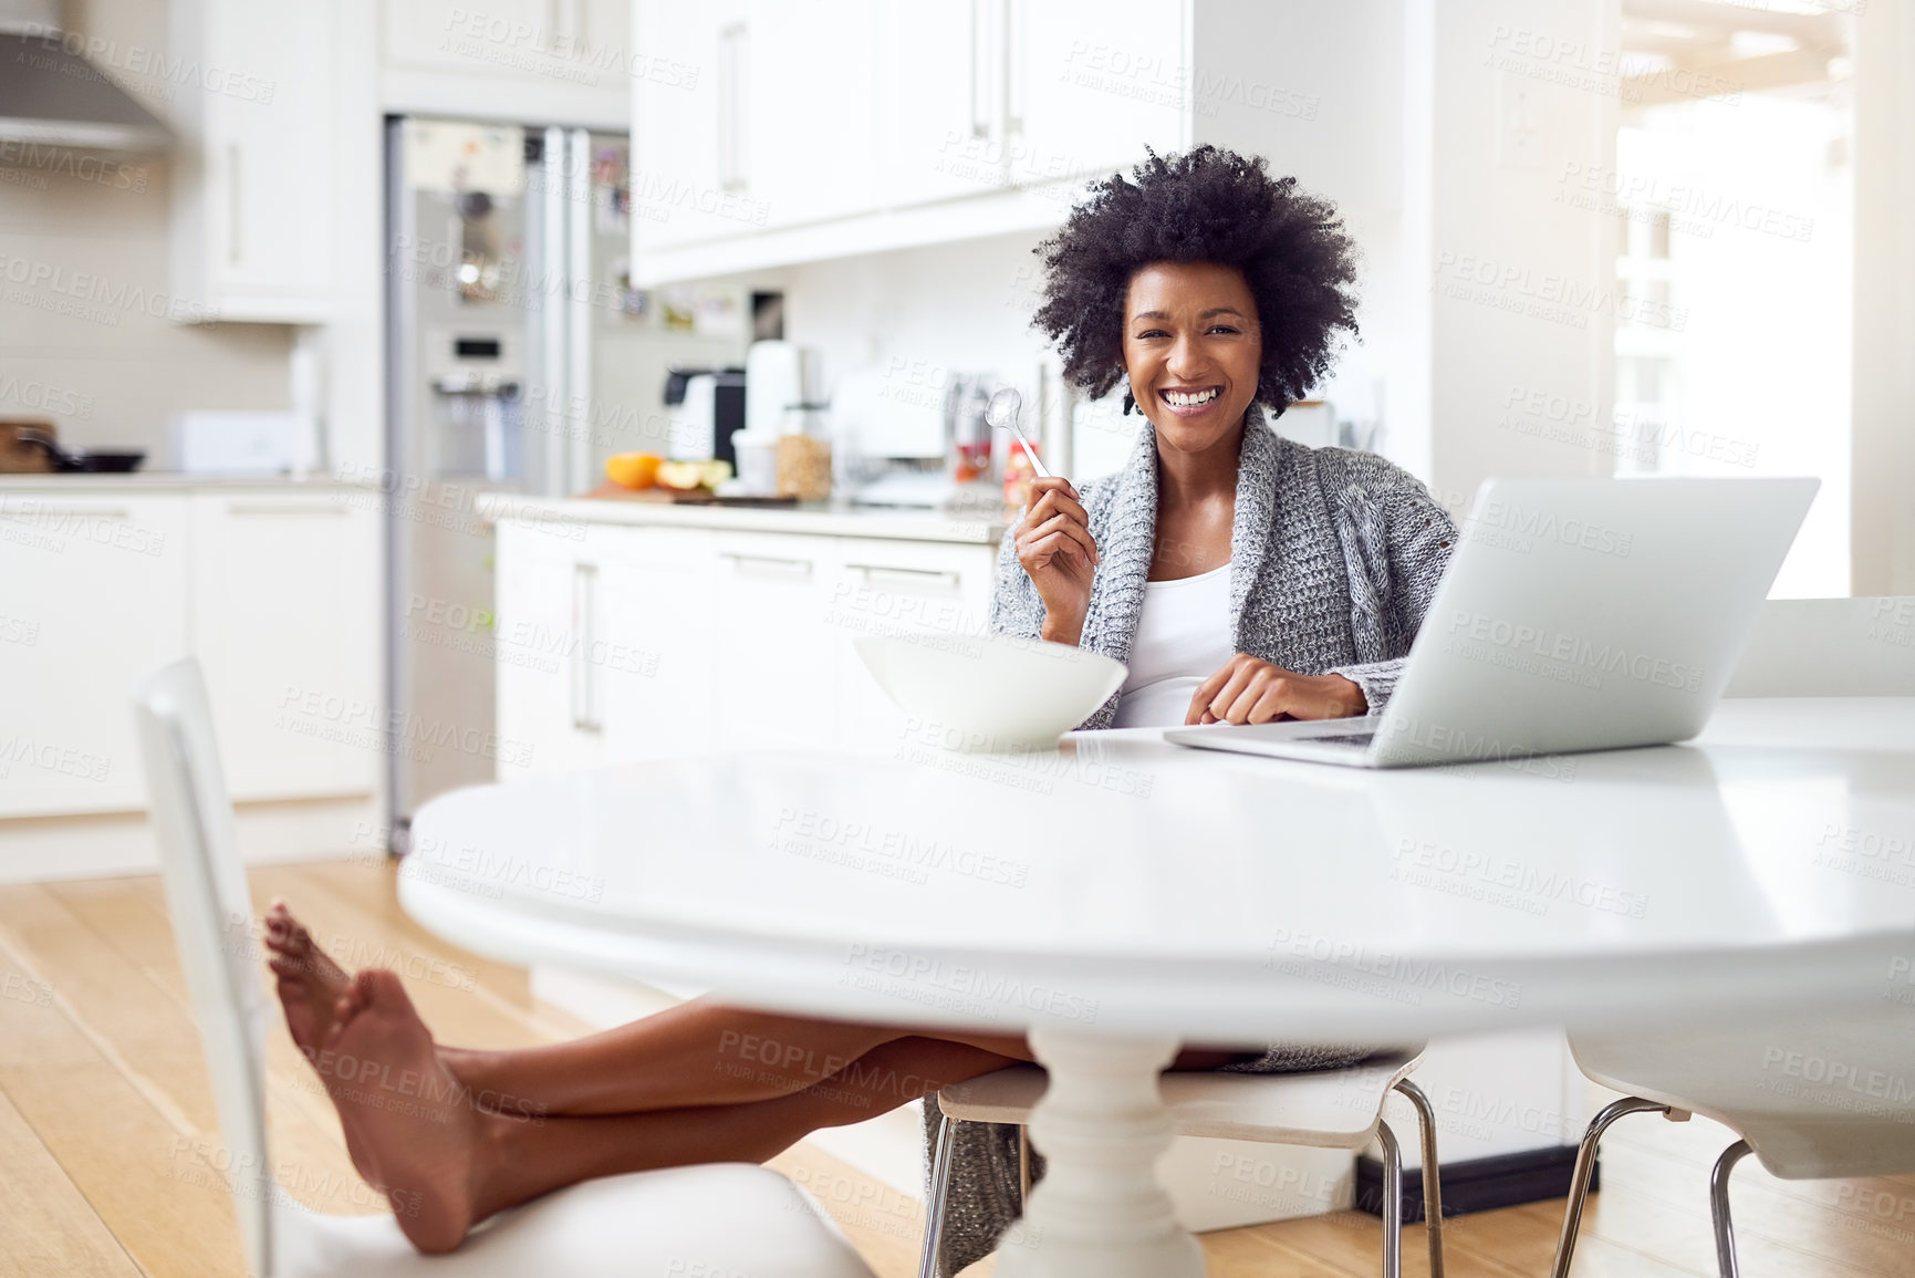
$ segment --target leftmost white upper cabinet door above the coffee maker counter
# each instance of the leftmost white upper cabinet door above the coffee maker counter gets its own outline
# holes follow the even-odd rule
[[[636,0],[632,255],[739,236],[764,224],[745,197],[739,113],[745,2]]]

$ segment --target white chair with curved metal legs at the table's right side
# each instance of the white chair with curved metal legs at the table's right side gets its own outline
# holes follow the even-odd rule
[[[1769,600],[1724,696],[1915,696],[1915,598]],[[1628,1113],[1716,1119],[1741,1140],[1708,1178],[1716,1267],[1735,1278],[1729,1175],[1750,1152],[1783,1180],[1915,1173],[1915,1107],[1829,1096],[1791,1067],[1821,1061],[1844,1077],[1875,1071],[1907,1086],[1915,1027],[1898,1004],[1881,1012],[1798,1017],[1789,1023],[1655,1035],[1570,1035],[1570,1054],[1591,1081],[1622,1092],[1589,1123],[1576,1150],[1553,1278],[1566,1278],[1589,1192],[1597,1144]],[[1814,1069],[1808,1065],[1806,1069]],[[1817,1102],[1819,1098],[1819,1102]],[[1836,1104],[1827,1104],[1836,1102]],[[1888,1115],[1896,1121],[1888,1121]]]

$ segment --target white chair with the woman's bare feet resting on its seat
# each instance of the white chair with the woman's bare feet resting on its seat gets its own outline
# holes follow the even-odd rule
[[[414,1251],[393,1217],[327,1217],[293,1201],[266,1152],[266,993],[251,947],[228,943],[228,925],[247,925],[253,906],[199,667],[169,665],[140,680],[132,699],[167,908],[230,1146],[249,1274],[873,1278],[808,1194],[745,1163],[576,1184],[494,1217],[442,1257]]]

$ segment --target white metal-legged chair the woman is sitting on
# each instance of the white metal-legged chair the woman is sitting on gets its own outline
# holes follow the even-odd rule
[[[1166,1073],[1159,1086],[1178,1136],[1220,1136],[1262,1144],[1318,1150],[1383,1146],[1383,1274],[1400,1278],[1404,1238],[1404,1159],[1396,1134],[1383,1121],[1383,1102],[1392,1090],[1417,1111],[1423,1148],[1423,1219],[1429,1232],[1431,1278],[1442,1278],[1442,1186],[1436,1171],[1436,1113],[1409,1071],[1423,1048],[1383,1054],[1348,1069],[1310,1073]],[[1030,1111],[1048,1084],[1038,1065],[1013,1065],[938,1092],[944,1117],[931,1155],[931,1201],[925,1205],[925,1247],[919,1278],[936,1278],[944,1205],[950,1194],[952,1127],[956,1123],[1015,1123],[1023,1199],[1030,1198]]]

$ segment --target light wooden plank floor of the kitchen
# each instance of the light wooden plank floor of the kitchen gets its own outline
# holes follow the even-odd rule
[[[456,950],[396,906],[387,870],[257,870],[349,966],[385,964],[446,1042],[532,1044],[580,1027],[532,1002],[521,970]],[[368,1213],[326,1096],[283,1035],[270,1040],[274,1159],[312,1207]],[[1586,1215],[1576,1274],[1714,1274],[1706,1175],[1722,1127],[1626,1119],[1603,1146],[1605,1192]],[[218,1123],[155,878],[0,887],[0,1276],[241,1278]],[[881,1278],[915,1272],[921,1213],[823,1152],[774,1163],[839,1217]],[[1915,1272],[1915,1178],[1777,1182],[1735,1173],[1746,1278]],[[1561,1203],[1463,1217],[1453,1278],[1545,1274]],[[1425,1274],[1421,1234],[1406,1272]],[[1203,1240],[1210,1274],[1377,1272],[1377,1222],[1337,1213]],[[971,1270],[988,1272],[988,1263]]]

